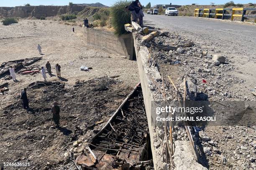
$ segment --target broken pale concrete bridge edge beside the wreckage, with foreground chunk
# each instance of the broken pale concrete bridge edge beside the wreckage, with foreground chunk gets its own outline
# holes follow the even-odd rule
[[[134,33],[135,34],[135,33]],[[141,87],[143,92],[144,104],[146,107],[146,114],[148,119],[148,128],[150,133],[151,140],[151,149],[152,156],[154,161],[154,169],[155,170],[167,170],[169,169],[166,163],[163,162],[161,145],[162,140],[158,136],[159,128],[152,124],[151,119],[153,119],[152,114],[152,102],[158,102],[162,96],[161,94],[156,94],[158,90],[156,90],[155,85],[152,83],[151,77],[156,80],[159,87],[162,87],[161,75],[156,67],[148,66],[148,49],[145,46],[138,45],[138,41],[136,40],[136,36],[133,35],[134,47],[136,52],[137,64],[138,64],[138,73],[141,79]],[[138,48],[139,47],[139,48]],[[160,145],[156,145],[159,143]],[[174,150],[174,164],[175,170],[207,170],[207,168],[203,167],[201,164],[197,163],[191,145],[188,141],[175,141],[175,150]]]

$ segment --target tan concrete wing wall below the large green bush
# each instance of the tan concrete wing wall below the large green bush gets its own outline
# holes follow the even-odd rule
[[[133,35],[116,36],[113,32],[83,26],[84,43],[106,52],[119,54],[133,60]]]

